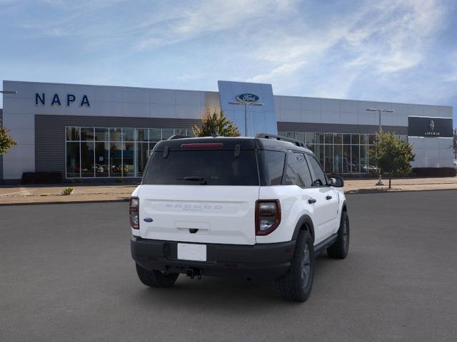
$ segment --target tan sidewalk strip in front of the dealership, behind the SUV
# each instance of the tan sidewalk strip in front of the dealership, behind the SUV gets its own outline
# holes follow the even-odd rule
[[[385,186],[377,187],[377,180],[345,180],[344,192],[398,192],[420,190],[457,190],[457,177],[445,178],[403,178],[392,180],[392,189],[388,190],[388,180],[383,180]],[[128,200],[136,184],[129,185],[71,185],[74,191],[71,195],[61,195],[66,185],[18,185],[0,186],[1,204],[29,204],[55,202],[109,202]]]

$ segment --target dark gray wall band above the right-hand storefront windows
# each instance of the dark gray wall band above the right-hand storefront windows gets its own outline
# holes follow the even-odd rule
[[[395,132],[398,135],[407,135],[406,126],[382,126],[385,132]],[[345,125],[337,123],[286,123],[278,122],[279,131],[291,132],[318,132],[318,133],[375,133],[378,125]]]

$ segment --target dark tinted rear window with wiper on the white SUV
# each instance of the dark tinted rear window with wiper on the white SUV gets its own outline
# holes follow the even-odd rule
[[[145,185],[258,185],[253,150],[171,150],[168,157],[157,151],[144,175]]]

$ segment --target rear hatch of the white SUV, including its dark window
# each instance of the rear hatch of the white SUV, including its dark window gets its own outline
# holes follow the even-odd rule
[[[259,180],[253,140],[159,142],[139,190],[140,236],[255,244]]]

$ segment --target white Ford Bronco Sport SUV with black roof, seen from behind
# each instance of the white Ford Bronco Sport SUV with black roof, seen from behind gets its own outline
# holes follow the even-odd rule
[[[180,273],[272,279],[283,299],[306,301],[315,256],[348,254],[342,187],[295,140],[161,141],[130,201],[139,279],[152,287],[172,286]]]

